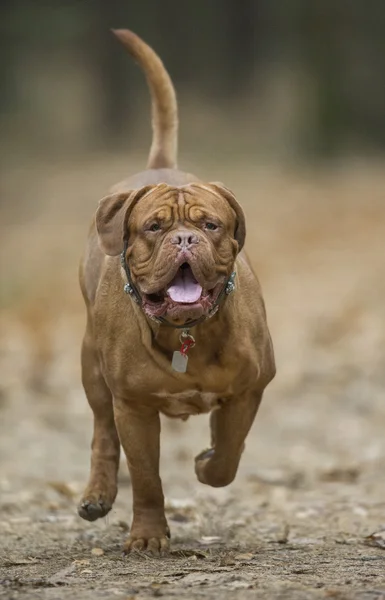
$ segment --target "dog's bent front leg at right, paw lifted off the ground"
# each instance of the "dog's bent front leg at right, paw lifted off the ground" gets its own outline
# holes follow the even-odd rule
[[[201,483],[213,487],[229,485],[237,474],[245,439],[253,424],[262,393],[231,398],[211,413],[212,448],[195,458],[195,472]]]

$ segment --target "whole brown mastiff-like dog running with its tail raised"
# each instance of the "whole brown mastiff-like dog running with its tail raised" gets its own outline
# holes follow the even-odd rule
[[[134,513],[126,550],[157,554],[169,546],[159,413],[212,411],[211,448],[195,471],[202,483],[228,485],[275,365],[261,289],[241,252],[243,211],[223,185],[177,170],[171,80],[140,38],[114,33],[146,74],[153,142],[148,170],[101,200],[80,267],[94,436],[79,514],[93,521],[111,509],[122,445]]]

